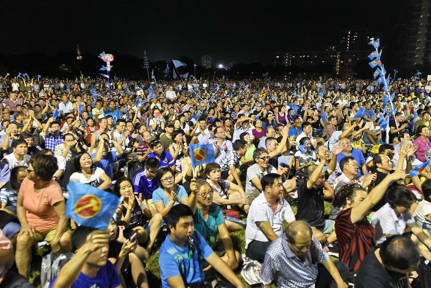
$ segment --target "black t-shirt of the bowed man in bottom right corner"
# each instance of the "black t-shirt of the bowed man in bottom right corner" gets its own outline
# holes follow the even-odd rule
[[[378,261],[374,251],[368,253],[360,263],[354,280],[355,288],[392,288],[405,274],[386,270]]]

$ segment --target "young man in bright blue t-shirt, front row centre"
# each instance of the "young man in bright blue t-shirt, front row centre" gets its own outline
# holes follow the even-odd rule
[[[184,204],[173,206],[167,214],[169,234],[158,255],[161,286],[188,286],[205,279],[200,264],[204,258],[217,272],[236,287],[243,287],[232,269],[215,254],[205,239],[194,231],[193,213]]]

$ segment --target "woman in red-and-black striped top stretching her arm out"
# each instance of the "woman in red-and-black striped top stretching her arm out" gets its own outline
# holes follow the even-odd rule
[[[336,193],[332,205],[344,206],[335,219],[339,259],[349,266],[350,271],[359,268],[362,259],[375,245],[375,230],[365,214],[383,197],[392,181],[404,178],[404,171],[388,174],[368,195],[365,187],[359,184],[346,184]]]

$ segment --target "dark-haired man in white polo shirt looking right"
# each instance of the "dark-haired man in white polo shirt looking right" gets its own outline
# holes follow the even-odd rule
[[[262,177],[263,192],[251,203],[245,227],[245,254],[263,262],[266,249],[283,233],[283,221],[293,222],[295,216],[283,198],[281,176],[270,173]]]

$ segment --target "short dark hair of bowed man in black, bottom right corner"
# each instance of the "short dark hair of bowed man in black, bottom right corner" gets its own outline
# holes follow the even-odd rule
[[[419,262],[416,244],[403,235],[394,235],[380,245],[379,255],[385,265],[404,270]]]

